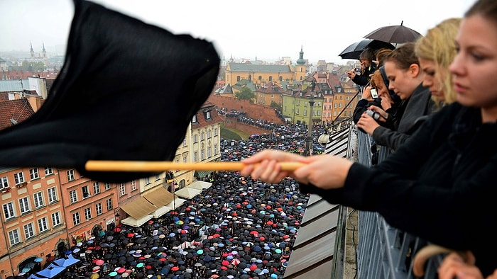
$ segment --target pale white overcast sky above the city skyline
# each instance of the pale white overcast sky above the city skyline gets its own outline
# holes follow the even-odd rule
[[[425,34],[440,21],[463,16],[475,0],[94,0],[170,30],[214,42],[229,59],[346,62],[347,46],[376,28],[403,25]],[[48,52],[65,45],[74,13],[71,0],[0,0],[0,51]]]

